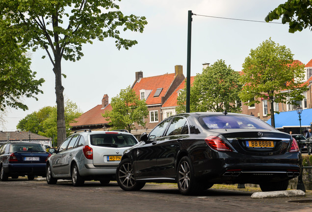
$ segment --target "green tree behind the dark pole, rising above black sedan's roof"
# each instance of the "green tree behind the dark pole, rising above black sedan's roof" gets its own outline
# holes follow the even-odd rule
[[[238,78],[239,73],[222,59],[204,69],[190,89],[190,112],[239,112],[240,106],[235,106],[241,89]],[[185,90],[178,97],[178,113],[185,112]]]

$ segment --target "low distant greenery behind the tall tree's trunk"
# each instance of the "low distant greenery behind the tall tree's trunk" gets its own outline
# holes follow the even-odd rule
[[[66,120],[66,135],[69,136],[70,123],[75,122],[82,112],[78,106],[71,102],[65,103],[65,120]],[[19,121],[16,126],[21,131],[30,131],[46,137],[54,137],[57,139],[57,110],[56,106],[45,106],[38,111],[26,115],[26,117]]]

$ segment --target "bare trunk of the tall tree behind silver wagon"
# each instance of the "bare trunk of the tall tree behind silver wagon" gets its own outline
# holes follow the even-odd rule
[[[55,57],[54,65],[55,74],[55,95],[57,107],[57,146],[66,139],[65,127],[65,109],[64,109],[64,87],[62,86],[62,71],[61,71],[61,58]]]

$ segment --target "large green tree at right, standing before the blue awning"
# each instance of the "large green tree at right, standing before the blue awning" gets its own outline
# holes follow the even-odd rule
[[[296,104],[296,101],[303,100],[303,92],[308,89],[302,83],[304,65],[293,60],[293,54],[286,46],[271,39],[252,49],[242,66],[241,100],[252,105],[260,103],[259,98],[267,99],[270,114],[278,112],[274,111],[274,102]],[[271,125],[275,127],[274,115],[271,115]]]

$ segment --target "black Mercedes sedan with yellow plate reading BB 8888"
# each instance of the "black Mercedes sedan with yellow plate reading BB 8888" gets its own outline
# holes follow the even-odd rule
[[[297,142],[260,119],[237,113],[171,116],[126,150],[116,170],[118,185],[139,190],[147,182],[177,183],[183,195],[213,184],[259,184],[286,190],[300,175]]]

